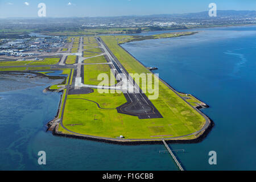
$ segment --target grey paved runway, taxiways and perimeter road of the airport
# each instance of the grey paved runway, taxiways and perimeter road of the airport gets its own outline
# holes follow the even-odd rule
[[[109,50],[109,48],[105,45],[105,43],[100,38],[97,38],[97,40],[100,43],[100,46],[98,46],[98,47],[100,47],[104,50],[104,53],[102,53],[101,55],[105,55],[106,60],[108,61],[110,68],[112,68],[113,73],[115,75],[117,75],[118,73],[123,73],[126,77],[129,77],[129,74],[127,73],[126,69],[122,66],[121,63],[119,63],[118,59],[113,55],[113,53]],[[72,44],[69,44],[69,45],[72,45]],[[77,53],[71,53],[70,52],[71,51],[70,46],[68,47],[68,52],[70,52],[70,53],[68,53],[68,52],[61,53],[63,55],[61,57],[62,58],[61,60],[63,60],[64,59],[63,57],[65,57],[67,55],[77,55],[78,59],[77,59],[76,64],[74,64],[74,65],[67,65],[67,64],[64,63],[64,61],[63,62],[60,61],[61,64],[56,64],[56,65],[40,65],[40,67],[51,67],[51,68],[55,68],[55,69],[56,68],[73,68],[74,69],[72,84],[70,84],[71,77],[69,77],[69,80],[68,80],[67,94],[65,94],[65,98],[63,100],[63,102],[64,102],[63,103],[63,110],[61,110],[62,115],[61,115],[61,119],[59,121],[60,125],[65,130],[67,130],[67,131],[69,131],[73,134],[84,136],[84,137],[89,137],[89,138],[98,138],[98,139],[105,139],[105,140],[122,140],[122,141],[156,140],[156,139],[113,139],[113,138],[105,138],[105,137],[96,137],[96,136],[91,136],[91,135],[83,135],[83,134],[75,133],[75,132],[65,128],[65,126],[63,126],[62,121],[63,121],[63,115],[64,115],[64,107],[65,107],[65,103],[66,103],[68,94],[86,94],[86,93],[93,92],[93,90],[90,88],[90,85],[84,86],[81,83],[80,83],[80,85],[77,85],[77,88],[79,88],[79,89],[76,89],[76,82],[77,82],[76,78],[77,78],[77,76],[80,76],[79,78],[81,78],[81,80],[80,80],[81,82],[82,82],[83,76],[84,76],[83,73],[81,74],[81,69],[82,69],[82,64],[83,64],[82,61],[85,60],[85,59],[89,59],[89,57],[86,57],[86,58],[82,57],[82,51],[83,51],[82,46],[83,46],[82,38],[80,38],[80,46],[79,46],[79,51],[77,51]],[[101,55],[98,55],[98,56],[101,56]],[[56,56],[56,54],[55,55],[49,54],[48,56],[37,56],[37,57],[51,57],[51,56]],[[93,56],[93,57],[96,57],[96,56]],[[25,66],[20,65],[20,66],[9,66],[9,67],[0,67],[0,68],[12,68],[12,67],[39,67],[39,65],[25,65]],[[132,80],[132,79],[130,79],[130,80]],[[160,78],[159,78],[159,80],[163,81]],[[166,84],[171,90],[173,90],[176,93],[176,91],[170,85],[168,85],[166,82],[164,82],[164,84]],[[133,85],[134,88],[139,88],[138,85],[136,85],[135,82],[133,82],[132,85]],[[141,119],[162,118],[162,115],[155,108],[155,106],[152,104],[152,102],[150,100],[148,100],[147,96],[142,92],[142,90],[140,88],[139,88],[139,93],[123,93],[123,94],[124,94],[127,102],[116,108],[118,113],[134,115],[134,116],[137,116],[138,118],[141,118]],[[177,96],[179,96],[179,94],[177,94]],[[182,97],[180,97],[180,98],[182,98]],[[184,98],[182,98],[182,99],[185,101]],[[88,101],[90,101],[90,100],[88,100]],[[94,101],[92,101],[92,102],[94,102]],[[187,102],[187,101],[185,101],[185,102]],[[97,102],[94,102],[94,103],[96,103],[98,105]],[[199,134],[199,133],[201,133],[202,131],[206,130],[209,127],[210,119],[205,114],[203,114],[199,109],[196,109],[195,107],[193,107],[188,102],[187,102],[187,104],[190,105],[193,109],[195,109],[198,113],[203,115],[203,117],[205,118],[205,125],[199,131],[196,131],[194,133],[179,136],[179,137],[165,138],[165,139],[167,139],[167,140],[168,139],[179,139],[179,138],[182,138],[182,137],[187,137],[189,135]],[[98,105],[98,107],[101,108],[100,105]],[[104,108],[101,108],[101,109],[104,109]]]

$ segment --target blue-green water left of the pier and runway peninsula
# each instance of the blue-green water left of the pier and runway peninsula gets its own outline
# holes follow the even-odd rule
[[[159,150],[165,150],[163,145],[120,146],[46,132],[47,122],[57,113],[61,93],[44,93],[43,89],[55,83],[0,77],[0,170],[177,169],[170,156],[159,155]],[[5,85],[13,86],[7,91]],[[39,151],[46,152],[46,165],[38,164]]]

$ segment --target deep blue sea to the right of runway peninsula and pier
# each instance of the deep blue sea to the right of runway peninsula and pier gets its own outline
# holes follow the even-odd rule
[[[172,144],[188,170],[256,169],[256,26],[198,30],[180,38],[123,44],[132,55],[176,90],[210,107],[215,126],[196,144]],[[209,151],[217,165],[209,165]]]

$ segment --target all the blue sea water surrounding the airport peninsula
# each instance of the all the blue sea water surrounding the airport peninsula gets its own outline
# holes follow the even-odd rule
[[[199,33],[122,47],[144,65],[158,67],[155,72],[176,90],[210,106],[203,112],[215,126],[203,142],[171,144],[185,150],[176,153],[185,169],[255,170],[256,26],[193,31]],[[170,155],[159,154],[165,150],[160,144],[119,146],[46,132],[61,96],[43,92],[51,84],[0,77],[1,170],[177,170]],[[45,166],[38,164],[42,150]],[[217,152],[217,165],[209,165],[209,151]]]

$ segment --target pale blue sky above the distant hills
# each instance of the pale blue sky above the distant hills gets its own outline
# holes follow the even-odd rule
[[[0,0],[0,18],[38,17],[38,4],[47,17],[85,17],[196,13],[209,10],[256,10],[256,0]]]

